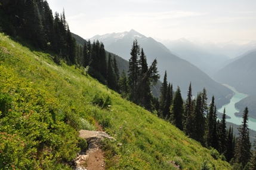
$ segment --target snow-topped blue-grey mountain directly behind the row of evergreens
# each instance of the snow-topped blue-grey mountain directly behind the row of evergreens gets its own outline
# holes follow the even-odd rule
[[[143,48],[147,56],[147,62],[150,64],[153,59],[158,60],[158,70],[162,78],[164,78],[165,70],[167,72],[167,79],[173,84],[174,90],[180,86],[183,99],[186,99],[187,89],[192,82],[193,95],[197,95],[199,91],[205,87],[209,100],[212,95],[215,96],[217,107],[222,106],[224,103],[229,103],[228,95],[232,96],[233,92],[225,86],[213,81],[206,73],[202,72],[198,67],[189,63],[180,57],[172,54],[160,42],[155,41],[153,38],[147,38],[135,30],[124,33],[112,33],[102,36],[94,36],[90,40],[103,42],[107,51],[111,51],[126,60],[130,58],[131,45],[134,39],[137,39],[138,44]],[[161,78],[161,79],[162,79]],[[231,94],[231,95],[230,95]]]

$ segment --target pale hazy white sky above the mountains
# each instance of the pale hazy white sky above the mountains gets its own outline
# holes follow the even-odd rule
[[[71,32],[91,38],[131,29],[152,38],[256,40],[255,0],[47,0]]]

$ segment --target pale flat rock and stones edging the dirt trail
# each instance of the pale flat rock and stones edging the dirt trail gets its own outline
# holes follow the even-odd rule
[[[100,152],[102,154],[102,151],[100,150],[101,140],[104,138],[115,140],[115,138],[106,134],[106,132],[100,131],[81,130],[79,131],[79,137],[85,138],[85,140],[87,140],[88,146],[87,150],[78,153],[78,156],[75,159],[75,170],[87,170],[88,158],[91,155],[94,155],[96,152]],[[104,167],[104,159],[99,160],[98,157],[95,156],[95,160],[98,161],[100,167]]]

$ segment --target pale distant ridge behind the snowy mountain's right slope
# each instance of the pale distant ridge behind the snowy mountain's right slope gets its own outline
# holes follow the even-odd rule
[[[196,45],[185,38],[181,38],[176,41],[163,41],[163,43],[169,50],[178,54],[178,57],[181,57],[194,64],[209,76],[212,76],[220,69],[221,63],[229,60],[229,57],[226,55],[210,53],[203,47],[200,47],[199,45]],[[211,50],[218,48],[209,41],[204,42],[203,45],[205,47],[212,47]]]

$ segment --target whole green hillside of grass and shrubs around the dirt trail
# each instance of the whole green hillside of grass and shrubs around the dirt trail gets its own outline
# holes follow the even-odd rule
[[[104,141],[107,169],[214,169],[230,165],[152,113],[99,84],[86,70],[30,51],[0,34],[0,166],[72,169],[78,130],[95,121],[116,141]],[[110,109],[107,106],[111,105]]]

